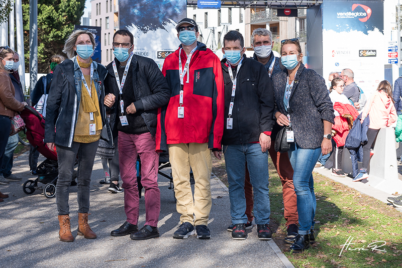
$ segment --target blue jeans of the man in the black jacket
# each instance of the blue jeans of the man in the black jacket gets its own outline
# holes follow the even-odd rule
[[[260,144],[241,144],[223,147],[228,173],[230,213],[232,223],[247,223],[244,178],[247,168],[254,193],[254,216],[257,224],[268,224],[271,214],[268,189],[268,154]]]

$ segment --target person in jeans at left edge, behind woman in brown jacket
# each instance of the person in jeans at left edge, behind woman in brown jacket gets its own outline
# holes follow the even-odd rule
[[[20,81],[20,74],[18,73],[18,67],[20,66],[20,56],[18,55],[17,52],[14,52],[13,61],[14,61],[13,68],[12,70],[10,70],[11,73],[9,75],[11,81],[13,82],[13,86],[16,92],[15,98],[20,102],[24,102],[25,101],[24,91],[22,89],[22,84]],[[14,151],[18,146],[19,141],[18,138],[19,138],[18,133],[16,135],[9,137],[9,141],[6,146],[6,151],[4,153],[3,164],[0,170],[0,173],[3,174],[3,177],[6,180],[14,182],[19,182],[22,180],[22,178],[17,177],[11,171],[13,168]]]

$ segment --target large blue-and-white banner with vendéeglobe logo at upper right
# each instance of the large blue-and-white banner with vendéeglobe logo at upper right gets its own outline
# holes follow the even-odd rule
[[[384,79],[382,1],[323,2],[323,76],[350,68],[365,93]]]

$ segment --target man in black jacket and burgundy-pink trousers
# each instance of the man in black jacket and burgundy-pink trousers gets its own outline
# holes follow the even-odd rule
[[[158,109],[169,102],[170,89],[156,63],[134,55],[134,37],[127,30],[113,36],[115,60],[107,66],[105,105],[111,107],[113,136],[118,134],[120,175],[127,220],[112,236],[130,234],[133,240],[159,237],[159,154],[155,148]],[[146,222],[138,230],[139,195],[137,156],[141,159],[141,184],[145,188]],[[113,184],[113,182],[112,182]],[[111,184],[111,187],[113,186]]]

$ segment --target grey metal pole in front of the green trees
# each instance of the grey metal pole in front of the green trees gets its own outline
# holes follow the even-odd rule
[[[38,0],[29,1],[29,82],[30,92],[38,78]]]

